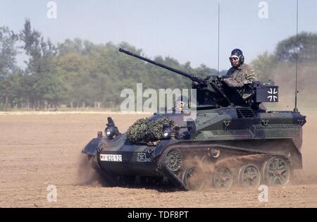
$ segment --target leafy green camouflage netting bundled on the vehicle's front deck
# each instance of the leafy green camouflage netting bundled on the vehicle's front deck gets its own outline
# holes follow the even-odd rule
[[[149,118],[141,118],[128,128],[127,138],[130,142],[155,142],[163,140],[163,125],[174,121],[170,118],[161,118],[157,121],[150,121]]]

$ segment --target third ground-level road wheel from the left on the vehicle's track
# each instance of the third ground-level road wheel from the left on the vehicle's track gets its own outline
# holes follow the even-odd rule
[[[261,173],[259,168],[253,164],[247,164],[240,168],[238,180],[242,187],[259,187]]]

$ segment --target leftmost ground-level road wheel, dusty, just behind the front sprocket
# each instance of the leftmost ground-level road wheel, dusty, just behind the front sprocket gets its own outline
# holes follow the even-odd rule
[[[190,166],[184,171],[182,181],[185,190],[200,190],[204,186],[204,176],[197,166]]]

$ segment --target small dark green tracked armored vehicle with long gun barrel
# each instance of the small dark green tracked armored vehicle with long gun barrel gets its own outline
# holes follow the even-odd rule
[[[192,115],[193,107],[149,117],[144,124],[162,118],[173,122],[161,125],[161,137],[154,142],[129,140],[128,133],[121,133],[108,117],[105,136],[98,132],[82,152],[109,182],[145,183],[166,178],[185,190],[204,185],[286,185],[293,169],[302,168],[306,116],[296,109],[266,110],[263,102],[279,99],[273,82],[253,82],[237,90],[226,87],[221,77],[199,78],[120,51],[192,80],[197,106],[194,118],[186,118]]]

